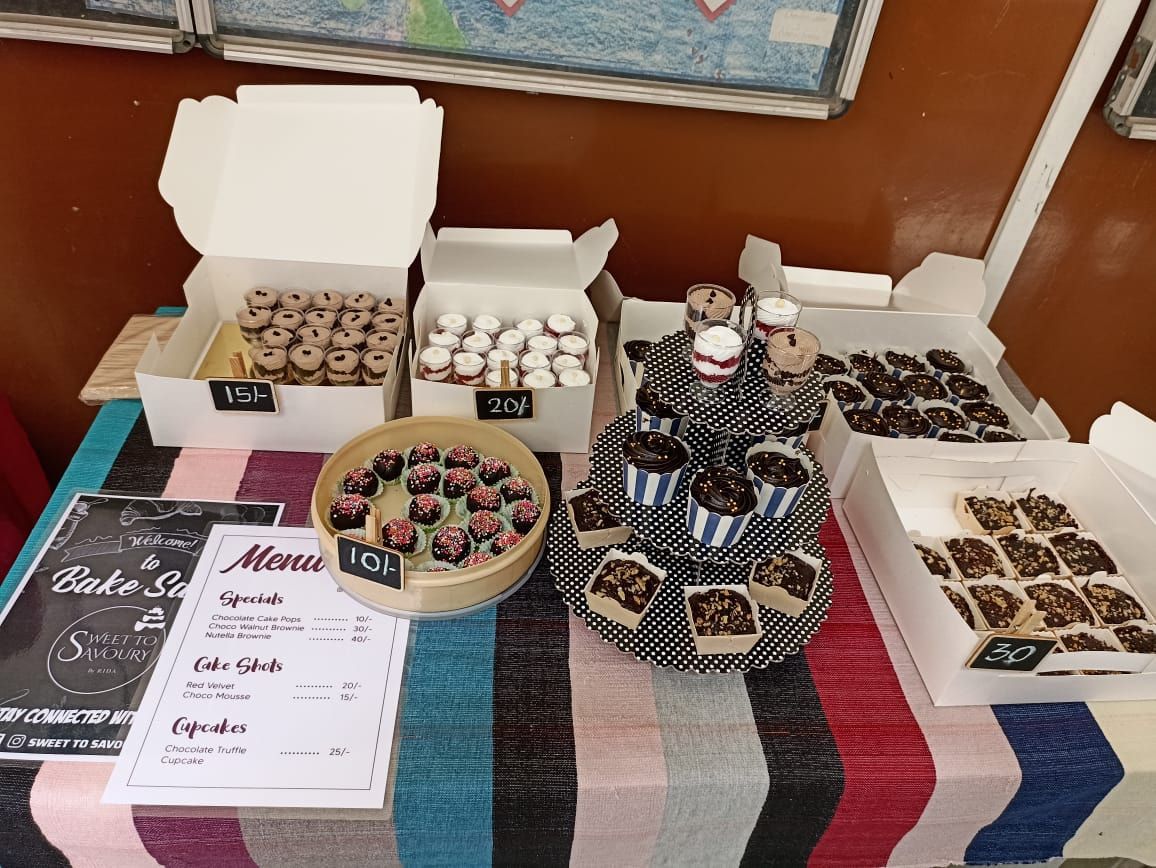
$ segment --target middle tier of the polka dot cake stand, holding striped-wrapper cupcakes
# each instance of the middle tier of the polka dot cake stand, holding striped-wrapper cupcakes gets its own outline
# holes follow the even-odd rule
[[[677,558],[731,564],[749,570],[755,561],[775,551],[799,548],[818,535],[818,528],[831,505],[831,496],[818,461],[806,450],[801,451],[812,459],[814,474],[794,512],[780,519],[754,515],[738,542],[722,549],[699,542],[687,531],[690,483],[698,470],[711,465],[746,467],[744,455],[750,445],[749,439],[735,438],[728,442],[725,433],[720,436],[704,425],[690,425],[682,438],[691,452],[690,466],[683,473],[674,496],[664,506],[643,506],[628,497],[622,485],[622,445],[633,430],[633,414],[618,416],[602,429],[590,452],[590,482],[602,495],[610,512],[623,524],[635,528],[635,535],[646,540],[654,549],[667,551]]]

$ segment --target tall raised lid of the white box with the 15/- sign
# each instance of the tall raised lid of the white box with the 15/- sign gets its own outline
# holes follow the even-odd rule
[[[440,148],[410,87],[246,86],[180,102],[160,188],[205,255],[406,268]]]

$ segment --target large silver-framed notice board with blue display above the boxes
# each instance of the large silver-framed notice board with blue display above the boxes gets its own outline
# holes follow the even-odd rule
[[[225,59],[809,118],[883,0],[192,0]]]

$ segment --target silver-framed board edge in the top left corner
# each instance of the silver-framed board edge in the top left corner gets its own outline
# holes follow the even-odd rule
[[[172,54],[197,37],[188,0],[0,0],[0,38]]]

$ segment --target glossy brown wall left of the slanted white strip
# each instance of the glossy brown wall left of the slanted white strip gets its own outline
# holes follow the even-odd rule
[[[435,223],[614,216],[609,267],[655,298],[734,283],[748,232],[792,265],[892,275],[983,255],[1094,5],[888,0],[858,101],[828,123],[421,83],[446,109]],[[306,81],[384,80],[0,42],[0,297],[36,324],[2,387],[52,475],[120,325],[181,302],[195,254],[156,192],[178,99]]]

